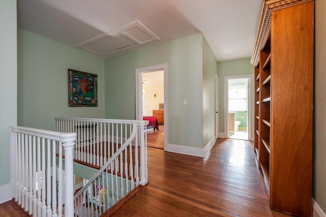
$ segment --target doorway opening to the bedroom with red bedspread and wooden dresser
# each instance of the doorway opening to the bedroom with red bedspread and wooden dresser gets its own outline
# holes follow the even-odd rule
[[[162,76],[161,79],[159,77]],[[164,150],[168,142],[168,64],[160,64],[136,69],[136,119],[143,120],[144,116],[157,117],[159,130],[148,130],[147,141],[151,133],[155,133],[158,142],[164,140]],[[160,135],[160,136],[159,136]],[[152,141],[151,141],[152,142]],[[155,141],[154,141],[155,143]],[[155,147],[155,145],[153,145]],[[157,148],[157,147],[155,147]]]

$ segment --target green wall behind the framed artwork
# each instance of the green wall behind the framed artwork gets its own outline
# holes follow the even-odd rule
[[[98,75],[97,107],[68,107],[68,68]],[[55,130],[54,117],[104,118],[104,60],[18,30],[18,125]]]

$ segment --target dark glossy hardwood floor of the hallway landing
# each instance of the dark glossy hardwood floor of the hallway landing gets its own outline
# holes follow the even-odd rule
[[[232,139],[218,139],[205,158],[148,148],[149,183],[114,216],[289,216],[269,208],[253,149]],[[0,216],[28,216],[19,209],[1,204]]]

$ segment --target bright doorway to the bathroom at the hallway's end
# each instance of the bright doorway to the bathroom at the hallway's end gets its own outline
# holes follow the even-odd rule
[[[225,138],[252,140],[254,75],[225,77]]]

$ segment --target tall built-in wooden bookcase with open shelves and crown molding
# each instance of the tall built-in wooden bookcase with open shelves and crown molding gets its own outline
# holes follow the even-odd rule
[[[255,152],[270,207],[311,216],[314,2],[266,0],[256,38]]]

